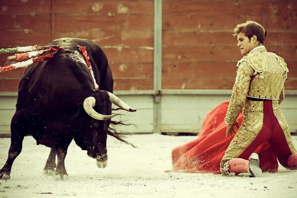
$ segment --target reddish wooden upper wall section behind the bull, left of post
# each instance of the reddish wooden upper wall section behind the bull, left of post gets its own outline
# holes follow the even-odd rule
[[[153,89],[153,0],[0,0],[0,8],[0,48],[90,39],[107,55],[115,90]],[[1,73],[0,91],[17,91],[23,72]]]

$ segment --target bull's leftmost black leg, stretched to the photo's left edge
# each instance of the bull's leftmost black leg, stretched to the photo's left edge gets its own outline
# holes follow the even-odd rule
[[[24,140],[23,133],[20,132],[20,128],[22,128],[23,124],[18,120],[20,117],[20,113],[16,112],[11,121],[11,143],[8,150],[8,157],[4,164],[4,166],[0,170],[0,179],[2,180],[9,180],[10,179],[10,172],[12,164],[15,158],[20,154],[22,151],[22,144]]]

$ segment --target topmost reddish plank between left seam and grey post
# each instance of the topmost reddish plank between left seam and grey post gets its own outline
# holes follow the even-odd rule
[[[56,13],[64,14],[153,14],[153,0],[54,0],[53,5]]]

